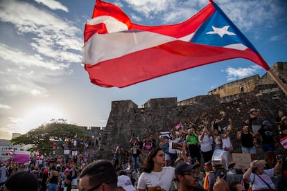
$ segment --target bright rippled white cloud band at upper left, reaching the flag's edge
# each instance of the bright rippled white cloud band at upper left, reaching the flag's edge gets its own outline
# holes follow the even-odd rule
[[[1,3],[0,21],[11,23],[18,35],[25,35],[28,45],[40,57],[67,64],[82,60],[82,31],[71,21],[36,8],[31,3],[15,0]]]

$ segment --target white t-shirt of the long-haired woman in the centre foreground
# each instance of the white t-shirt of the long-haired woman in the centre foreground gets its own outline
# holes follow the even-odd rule
[[[175,179],[174,167],[163,167],[162,172],[143,172],[139,176],[137,189],[146,190],[146,188],[159,186],[163,190],[169,191],[173,179]]]

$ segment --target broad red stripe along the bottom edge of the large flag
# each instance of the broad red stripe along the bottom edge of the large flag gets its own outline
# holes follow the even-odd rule
[[[153,62],[150,62],[150,57],[153,57]],[[260,55],[248,49],[238,51],[175,41],[95,65],[85,64],[85,69],[94,84],[101,87],[126,87],[169,73],[237,57],[262,62]]]

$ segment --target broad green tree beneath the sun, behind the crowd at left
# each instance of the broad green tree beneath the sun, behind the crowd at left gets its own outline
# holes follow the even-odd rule
[[[85,129],[77,125],[67,124],[65,120],[60,119],[31,129],[26,134],[13,138],[11,142],[13,144],[31,144],[33,145],[31,151],[40,150],[49,153],[53,149],[53,140],[65,140],[65,138],[73,138],[75,135],[83,138]]]

